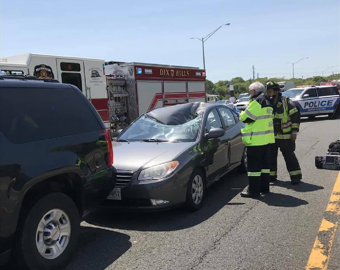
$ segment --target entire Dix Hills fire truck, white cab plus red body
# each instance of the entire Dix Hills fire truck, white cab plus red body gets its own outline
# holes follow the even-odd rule
[[[77,86],[113,131],[158,107],[205,101],[205,70],[198,67],[27,53],[0,59],[0,70]]]

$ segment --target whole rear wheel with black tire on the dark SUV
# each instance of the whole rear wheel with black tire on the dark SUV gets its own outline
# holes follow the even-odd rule
[[[47,194],[28,210],[18,232],[15,258],[20,267],[60,269],[69,261],[78,244],[78,208],[63,193]],[[38,246],[45,251],[40,252]]]

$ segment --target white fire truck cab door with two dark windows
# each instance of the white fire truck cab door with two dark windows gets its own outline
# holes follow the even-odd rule
[[[56,59],[56,61],[58,81],[73,84],[86,95],[83,61],[73,59]]]

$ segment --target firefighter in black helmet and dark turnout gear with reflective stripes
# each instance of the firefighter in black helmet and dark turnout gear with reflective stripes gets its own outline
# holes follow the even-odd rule
[[[271,80],[266,85],[267,93],[272,97],[274,108],[275,144],[271,145],[270,181],[274,182],[277,177],[277,153],[278,148],[280,148],[286,162],[291,184],[299,184],[302,174],[294,151],[296,134],[300,128],[300,112],[296,109],[292,100],[282,96],[280,93],[282,85],[278,85]]]

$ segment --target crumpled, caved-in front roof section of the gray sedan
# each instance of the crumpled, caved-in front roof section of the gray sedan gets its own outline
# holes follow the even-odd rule
[[[175,126],[187,123],[195,118],[199,112],[204,111],[209,103],[204,102],[190,102],[169,107],[162,107],[152,110],[147,115],[156,118],[159,122]]]

